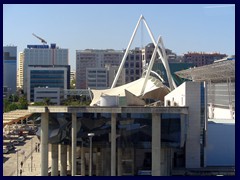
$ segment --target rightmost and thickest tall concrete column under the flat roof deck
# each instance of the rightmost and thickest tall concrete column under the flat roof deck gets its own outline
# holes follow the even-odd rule
[[[152,114],[152,176],[161,175],[161,114]]]

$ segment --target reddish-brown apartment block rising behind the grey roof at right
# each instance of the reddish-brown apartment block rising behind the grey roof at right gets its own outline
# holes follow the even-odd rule
[[[186,63],[193,63],[194,66],[205,66],[212,64],[215,60],[226,57],[226,54],[220,53],[205,53],[205,52],[188,52],[184,54],[183,61]]]

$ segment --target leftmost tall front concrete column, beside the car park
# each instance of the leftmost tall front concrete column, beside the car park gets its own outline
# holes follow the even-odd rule
[[[41,114],[41,176],[48,176],[48,112]]]

